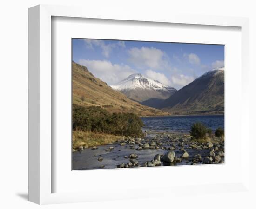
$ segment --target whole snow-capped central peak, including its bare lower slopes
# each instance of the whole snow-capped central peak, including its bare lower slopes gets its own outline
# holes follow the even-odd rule
[[[138,102],[143,102],[150,98],[166,99],[177,91],[175,88],[163,85],[157,80],[146,78],[140,73],[132,74],[120,83],[111,85],[111,87]]]

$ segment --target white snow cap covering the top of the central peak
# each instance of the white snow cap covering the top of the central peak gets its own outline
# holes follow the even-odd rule
[[[122,91],[122,90],[130,90],[130,89],[149,89],[155,91],[170,91],[171,89],[175,90],[172,87],[167,85],[163,85],[157,80],[152,80],[150,78],[146,78],[140,73],[135,73],[116,85],[111,85],[111,87],[115,90]]]

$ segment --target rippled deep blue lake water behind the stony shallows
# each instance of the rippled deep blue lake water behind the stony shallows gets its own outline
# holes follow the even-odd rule
[[[218,127],[224,129],[224,115],[142,117],[141,119],[145,124],[143,131],[189,133],[191,126],[196,122],[201,122],[213,132]]]

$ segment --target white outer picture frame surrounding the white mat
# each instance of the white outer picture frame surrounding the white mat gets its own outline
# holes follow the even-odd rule
[[[241,107],[241,130],[246,130],[249,127],[249,19],[238,17],[219,17],[207,15],[181,15],[181,14],[161,14],[152,15],[150,13],[143,13],[142,15],[131,14],[124,11],[116,11],[108,13],[108,11],[86,10],[81,7],[67,7],[67,6],[50,6],[38,5],[29,9],[29,200],[38,204],[52,204],[52,203],[67,203],[67,202],[84,202],[97,200],[114,200],[122,199],[124,191],[119,192],[119,196],[113,196],[113,192],[108,190],[103,193],[96,194],[87,191],[81,192],[55,192],[53,193],[53,182],[56,181],[52,176],[53,166],[52,156],[54,150],[52,149],[51,138],[53,136],[52,130],[52,17],[74,17],[87,19],[103,19],[103,20],[132,20],[140,22],[152,22],[154,24],[161,23],[175,23],[175,24],[189,24],[194,26],[232,26],[241,28],[241,63],[242,63],[242,83],[241,83],[241,99],[243,100]],[[93,38],[93,37],[92,37]],[[245,133],[247,132],[247,133]],[[249,132],[244,131],[243,141],[241,146],[241,161],[249,158],[249,152],[246,151],[246,144],[249,144]],[[246,136],[247,134],[247,136]],[[241,137],[241,136],[239,136]],[[243,158],[243,159],[242,159]],[[198,187],[207,189],[214,189],[218,192],[231,192],[234,188],[239,191],[249,191],[249,161],[243,161],[242,175],[239,180],[234,183],[219,183],[216,187],[214,185],[197,185],[190,186],[190,191],[198,191]],[[78,171],[79,172],[79,171]],[[119,173],[128,172],[119,170]],[[86,175],[86,174],[85,174]],[[166,188],[175,193],[175,190],[182,190],[186,186],[175,188]],[[92,188],[91,188],[92,189]],[[125,198],[156,196],[152,191],[153,188],[141,188],[136,192],[132,188],[127,187],[127,195]],[[132,191],[132,192],[131,192]],[[162,189],[162,193],[166,190]]]

